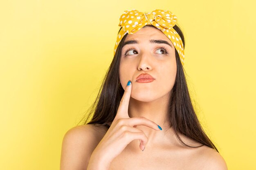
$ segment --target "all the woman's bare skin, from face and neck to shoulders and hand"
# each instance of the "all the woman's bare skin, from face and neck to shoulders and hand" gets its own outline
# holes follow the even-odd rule
[[[83,170],[86,167],[88,170],[227,170],[218,152],[208,146],[183,146],[173,128],[169,128],[167,108],[177,70],[172,42],[152,27],[127,35],[125,41],[128,40],[138,43],[122,48],[119,78],[125,93],[114,121],[109,124],[108,131],[93,125],[82,125],[79,126],[79,135],[64,138],[61,158],[64,168],[61,170]],[[164,40],[171,46],[153,44],[150,40]],[[148,73],[155,80],[138,83],[136,77],[141,73]],[[130,86],[127,86],[128,80],[132,82]],[[201,145],[180,133],[179,136],[189,146]],[[79,146],[72,143],[74,140],[79,141]],[[69,141],[74,146],[70,151],[66,149],[70,146]],[[79,147],[79,151],[73,153],[75,147]],[[65,165],[70,162],[70,157],[66,156],[68,152],[72,152],[72,156],[85,158],[79,166],[78,163]]]

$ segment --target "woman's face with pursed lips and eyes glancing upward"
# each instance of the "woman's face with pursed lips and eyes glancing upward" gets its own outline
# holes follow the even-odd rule
[[[130,40],[133,42],[129,43]],[[161,40],[171,46],[153,40]],[[127,82],[131,80],[131,97],[143,102],[168,95],[175,83],[177,72],[175,47],[171,40],[159,29],[146,26],[134,34],[128,34],[124,44],[119,68],[122,87],[125,89]],[[153,82],[136,81],[140,74],[145,73],[154,78]]]

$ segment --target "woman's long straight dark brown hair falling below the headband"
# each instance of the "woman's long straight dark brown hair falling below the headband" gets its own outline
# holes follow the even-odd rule
[[[119,31],[121,30],[121,28],[119,29]],[[173,26],[173,29],[175,29],[175,31],[180,35],[180,38],[182,39],[185,48],[184,35],[180,30],[179,26],[177,26],[176,24],[175,26]],[[117,51],[110,64],[110,67],[108,68],[108,71],[103,78],[103,83],[101,84],[97,98],[83,117],[83,119],[86,119],[83,124],[94,124],[95,126],[103,126],[108,129],[110,127],[108,124],[110,124],[115,118],[117,109],[120,104],[120,100],[124,95],[124,89],[119,81],[119,64],[121,49],[127,35],[128,33],[124,35],[121,42],[119,43],[119,46],[117,47]],[[168,107],[168,121],[170,121],[170,127],[173,127],[177,139],[182,142],[184,146],[198,148],[206,145],[219,152],[216,146],[205,134],[195,114],[193,105],[191,103],[189,90],[186,84],[184,69],[176,49],[175,57],[177,63],[177,74]],[[88,119],[90,118],[92,119],[88,122]],[[202,145],[189,146],[185,144],[177,132],[180,132],[186,137],[200,142]]]

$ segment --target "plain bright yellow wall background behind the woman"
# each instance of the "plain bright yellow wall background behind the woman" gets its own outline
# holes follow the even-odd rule
[[[202,126],[229,170],[255,165],[255,2],[0,2],[0,169],[59,169],[62,139],[94,101],[124,10],[166,9],[185,35]]]

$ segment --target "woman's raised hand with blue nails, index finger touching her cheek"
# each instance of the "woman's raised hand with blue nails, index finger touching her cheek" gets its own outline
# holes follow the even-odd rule
[[[95,164],[98,162],[101,163],[101,168],[103,168],[102,164],[104,164],[104,169],[108,169],[112,160],[117,157],[131,141],[135,139],[139,139],[139,148],[143,151],[148,138],[145,133],[136,128],[136,126],[144,125],[153,128],[154,130],[160,130],[155,122],[145,117],[129,117],[128,106],[131,91],[132,84],[126,86],[124,95],[117,110],[117,115],[112,121],[112,124],[105,136],[94,149],[88,168],[90,167],[90,164]]]

